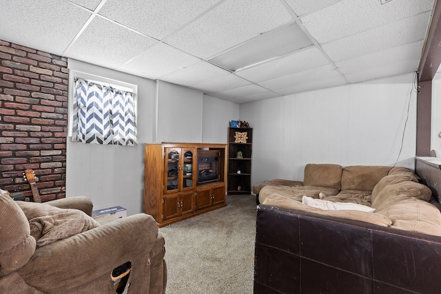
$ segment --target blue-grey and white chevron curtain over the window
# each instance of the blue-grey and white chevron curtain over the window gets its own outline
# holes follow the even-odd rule
[[[136,146],[134,93],[74,78],[72,141]]]

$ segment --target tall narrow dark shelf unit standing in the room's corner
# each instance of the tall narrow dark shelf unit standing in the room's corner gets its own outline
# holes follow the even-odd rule
[[[227,193],[250,194],[253,129],[228,128]]]

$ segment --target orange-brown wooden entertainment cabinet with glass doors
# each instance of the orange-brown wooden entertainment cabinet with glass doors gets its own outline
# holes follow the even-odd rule
[[[226,205],[227,145],[145,145],[143,212],[160,227]]]

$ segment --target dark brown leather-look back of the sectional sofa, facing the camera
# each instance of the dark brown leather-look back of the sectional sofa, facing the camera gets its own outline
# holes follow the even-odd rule
[[[254,293],[440,293],[441,237],[260,204]]]

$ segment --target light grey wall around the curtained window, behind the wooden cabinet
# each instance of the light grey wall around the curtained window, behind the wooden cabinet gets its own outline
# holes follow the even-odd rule
[[[72,143],[68,137],[66,196],[88,196],[94,209],[120,205],[127,215],[143,210],[143,143],[227,143],[228,120],[238,118],[236,103],[203,100],[201,92],[163,82],[157,87],[155,81],[73,59],[68,64],[70,70],[138,85],[137,147]]]

